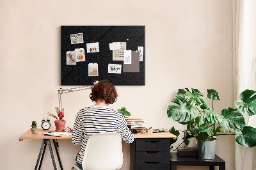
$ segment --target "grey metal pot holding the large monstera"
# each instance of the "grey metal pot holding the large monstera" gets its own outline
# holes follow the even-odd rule
[[[198,158],[201,159],[214,159],[216,153],[216,141],[201,141],[198,140]]]

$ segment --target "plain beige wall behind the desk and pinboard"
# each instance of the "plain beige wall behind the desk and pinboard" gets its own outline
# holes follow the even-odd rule
[[[35,167],[42,141],[19,142],[19,136],[32,120],[40,125],[46,112],[54,112],[57,89],[68,88],[60,85],[60,26],[146,26],[146,86],[117,86],[111,107],[127,107],[147,127],[184,128],[166,116],[178,88],[214,88],[221,98],[216,110],[232,107],[231,0],[1,0],[0,9],[0,169]],[[89,93],[63,95],[69,127],[81,107],[93,104]],[[79,147],[58,142],[63,167],[70,169]],[[128,150],[124,144],[122,169],[129,169]],[[234,169],[234,137],[218,137],[216,153]],[[42,169],[52,169],[48,149]]]

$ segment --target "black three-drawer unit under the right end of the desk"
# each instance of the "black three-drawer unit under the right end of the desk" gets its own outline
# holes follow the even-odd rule
[[[170,170],[170,138],[136,138],[130,157],[131,170]]]

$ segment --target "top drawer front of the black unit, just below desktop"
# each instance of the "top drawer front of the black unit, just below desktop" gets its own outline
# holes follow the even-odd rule
[[[141,140],[135,143],[136,151],[170,151],[168,140]]]

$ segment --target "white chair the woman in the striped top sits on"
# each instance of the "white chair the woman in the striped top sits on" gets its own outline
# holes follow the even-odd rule
[[[116,170],[123,165],[122,138],[116,133],[91,135],[86,144],[83,170]],[[79,170],[76,164],[72,165]]]

